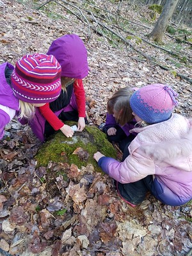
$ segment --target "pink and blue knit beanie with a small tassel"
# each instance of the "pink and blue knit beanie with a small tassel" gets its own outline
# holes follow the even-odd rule
[[[177,93],[168,85],[148,84],[131,96],[132,111],[148,124],[168,120],[178,102]]]

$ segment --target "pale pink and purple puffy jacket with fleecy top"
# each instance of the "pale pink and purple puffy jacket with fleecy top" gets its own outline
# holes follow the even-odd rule
[[[152,193],[158,200],[186,204],[192,198],[192,120],[173,114],[169,120],[132,131],[138,135],[124,162],[101,157],[99,166],[122,184],[154,175]]]

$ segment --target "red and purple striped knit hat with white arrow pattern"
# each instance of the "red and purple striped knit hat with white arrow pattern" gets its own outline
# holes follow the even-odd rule
[[[52,102],[61,92],[61,66],[52,55],[26,55],[17,61],[11,77],[17,99],[33,104]]]

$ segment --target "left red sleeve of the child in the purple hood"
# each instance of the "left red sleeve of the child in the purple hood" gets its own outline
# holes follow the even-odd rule
[[[40,113],[42,113],[44,118],[47,120],[47,122],[49,122],[49,124],[52,126],[52,128],[55,131],[58,131],[61,127],[63,127],[64,125],[63,122],[61,122],[58,116],[56,116],[52,112],[51,108],[49,108],[49,103],[46,103],[42,107],[38,107],[38,109],[40,110]]]

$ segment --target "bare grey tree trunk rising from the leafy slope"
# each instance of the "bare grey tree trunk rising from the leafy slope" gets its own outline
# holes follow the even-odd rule
[[[156,22],[156,26],[154,27],[153,31],[148,35],[155,41],[161,41],[166,31],[166,28],[172,18],[173,12],[179,0],[166,0],[164,4],[163,11]]]

